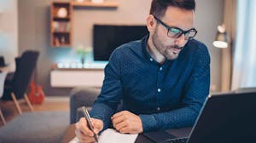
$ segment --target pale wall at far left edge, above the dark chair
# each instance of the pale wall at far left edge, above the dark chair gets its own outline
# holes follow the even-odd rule
[[[0,0],[0,55],[12,70],[15,70],[15,57],[18,55],[17,11],[17,0]]]

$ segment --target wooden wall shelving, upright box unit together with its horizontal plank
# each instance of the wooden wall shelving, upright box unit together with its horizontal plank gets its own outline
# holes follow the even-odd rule
[[[116,9],[118,3],[91,3],[89,1],[54,2],[50,8],[50,45],[56,47],[71,47],[73,40],[73,7]]]

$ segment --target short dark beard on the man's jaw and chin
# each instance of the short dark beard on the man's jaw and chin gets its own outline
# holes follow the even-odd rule
[[[152,43],[154,44],[154,47],[160,52],[160,54],[164,55],[167,60],[177,59],[178,54],[183,49],[183,47],[178,47],[176,44],[169,46],[164,45],[160,40],[160,36],[157,35],[157,31],[158,29],[155,29],[152,35]]]

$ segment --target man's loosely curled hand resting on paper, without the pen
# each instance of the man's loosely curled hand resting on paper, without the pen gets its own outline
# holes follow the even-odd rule
[[[137,115],[122,111],[118,112],[111,117],[113,128],[120,133],[138,134],[143,132],[143,123]]]

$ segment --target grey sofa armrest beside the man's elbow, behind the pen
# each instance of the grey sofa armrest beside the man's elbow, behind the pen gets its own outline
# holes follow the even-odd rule
[[[77,122],[77,110],[80,106],[91,107],[97,96],[100,94],[100,89],[89,87],[75,88],[70,94],[70,124]]]

